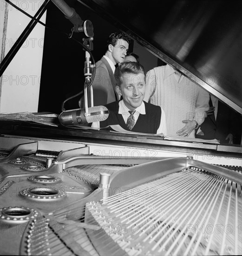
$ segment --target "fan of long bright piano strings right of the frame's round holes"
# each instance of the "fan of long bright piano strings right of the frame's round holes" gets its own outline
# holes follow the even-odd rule
[[[233,254],[241,251],[239,230],[232,234],[222,230],[229,227],[235,231],[241,223],[241,188],[238,191],[237,184],[233,187],[233,182],[227,179],[190,168],[138,186],[141,192],[137,196],[130,189],[103,202],[87,203],[90,214],[86,214],[89,217],[85,221],[99,224],[104,235],[113,239],[112,247],[120,246],[128,255],[134,253],[134,248],[135,254],[141,255],[194,255],[198,251],[203,255]],[[147,188],[158,188],[156,196],[147,196]],[[112,228],[116,223],[122,228],[120,234]],[[204,236],[202,229],[219,228],[221,223],[224,226],[220,232],[214,230],[210,236]],[[132,230],[134,224],[139,228],[138,235]],[[147,234],[146,227],[152,225],[157,226],[155,235]],[[91,240],[100,239],[100,233],[90,235]],[[216,243],[219,240],[223,241],[222,247]]]

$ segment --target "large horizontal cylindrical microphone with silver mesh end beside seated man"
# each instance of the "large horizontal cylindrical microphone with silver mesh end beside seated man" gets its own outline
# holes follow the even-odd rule
[[[105,106],[90,107],[87,112],[83,108],[77,108],[60,113],[59,122],[64,126],[70,126],[105,121],[108,116],[109,111]]]

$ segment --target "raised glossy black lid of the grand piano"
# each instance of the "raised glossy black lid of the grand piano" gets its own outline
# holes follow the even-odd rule
[[[78,1],[242,114],[241,1]]]

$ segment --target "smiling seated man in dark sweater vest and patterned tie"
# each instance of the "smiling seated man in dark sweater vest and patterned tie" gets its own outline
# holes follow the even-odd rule
[[[105,121],[93,123],[92,127],[115,126],[120,130],[166,135],[164,110],[143,101],[144,67],[137,62],[124,62],[116,68],[114,76],[116,92],[123,99],[105,105],[109,110],[109,117]]]

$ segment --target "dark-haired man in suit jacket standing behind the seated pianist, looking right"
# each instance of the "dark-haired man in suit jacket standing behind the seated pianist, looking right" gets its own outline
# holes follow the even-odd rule
[[[94,106],[105,105],[119,100],[115,90],[115,65],[122,63],[129,49],[130,39],[123,33],[112,33],[107,40],[107,50],[96,63],[96,74],[92,82]],[[90,107],[90,90],[88,107]],[[79,101],[80,108],[85,107],[84,96]]]

